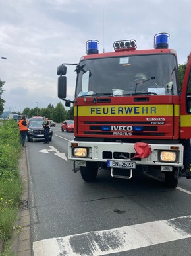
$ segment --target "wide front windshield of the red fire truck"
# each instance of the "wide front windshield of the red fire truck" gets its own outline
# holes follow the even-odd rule
[[[153,93],[178,95],[177,60],[173,54],[117,56],[82,60],[76,97]]]

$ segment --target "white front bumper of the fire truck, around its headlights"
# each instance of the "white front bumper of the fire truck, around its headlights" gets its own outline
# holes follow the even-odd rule
[[[151,154],[144,159],[132,159],[136,153],[134,143],[121,142],[68,142],[68,159],[72,161],[93,161],[97,163],[106,163],[110,160],[131,160],[136,161],[136,165],[155,165],[155,166],[183,166],[183,146],[182,144],[150,144]],[[74,148],[86,148],[87,157],[74,157]],[[173,148],[173,149],[172,149]],[[176,161],[161,161],[159,159],[160,151],[175,151]]]

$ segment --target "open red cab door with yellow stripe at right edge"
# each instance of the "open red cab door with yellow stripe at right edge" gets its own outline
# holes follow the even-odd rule
[[[180,138],[191,138],[191,53],[180,95]]]

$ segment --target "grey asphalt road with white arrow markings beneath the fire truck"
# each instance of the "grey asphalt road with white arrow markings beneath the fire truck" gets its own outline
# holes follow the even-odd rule
[[[191,255],[191,180],[82,180],[67,160],[73,134],[53,127],[49,144],[28,142],[31,237],[37,255]]]

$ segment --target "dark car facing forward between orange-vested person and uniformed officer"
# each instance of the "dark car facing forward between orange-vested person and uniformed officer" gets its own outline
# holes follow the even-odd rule
[[[44,130],[43,130],[43,117],[33,116],[28,122],[27,139],[28,142],[34,142],[36,140],[44,140]],[[51,142],[53,136],[53,131],[49,130],[49,141]]]

